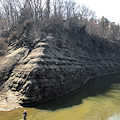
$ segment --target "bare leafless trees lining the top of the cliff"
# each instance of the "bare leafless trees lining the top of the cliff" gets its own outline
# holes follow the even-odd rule
[[[0,0],[0,33],[34,21],[39,27],[52,24],[75,24],[92,35],[109,40],[120,40],[120,26],[107,18],[97,19],[94,11],[74,0]],[[4,47],[3,47],[4,46]],[[0,50],[5,43],[0,39]]]

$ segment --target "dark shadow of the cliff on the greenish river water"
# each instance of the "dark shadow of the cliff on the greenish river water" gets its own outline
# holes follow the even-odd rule
[[[119,83],[120,83],[119,73],[91,79],[87,82],[87,84],[84,87],[65,96],[58,97],[54,100],[50,100],[48,102],[39,104],[39,106],[37,105],[36,108],[54,111],[56,109],[79,105],[87,97],[105,95],[105,93],[111,89],[115,88],[118,89],[118,86],[114,86],[114,84],[119,85]],[[112,97],[112,95],[108,95],[107,97]]]

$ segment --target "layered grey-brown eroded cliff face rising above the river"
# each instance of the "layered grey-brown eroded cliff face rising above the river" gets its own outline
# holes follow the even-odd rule
[[[120,70],[119,43],[90,36],[83,28],[43,32],[34,38],[26,29],[20,37],[16,34],[0,58],[0,88],[2,95],[9,91],[18,103],[48,100]]]

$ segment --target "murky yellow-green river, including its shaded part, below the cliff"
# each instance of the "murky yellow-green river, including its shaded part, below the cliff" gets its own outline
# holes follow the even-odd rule
[[[120,120],[120,73],[89,80],[65,96],[35,107],[0,112],[0,120]]]

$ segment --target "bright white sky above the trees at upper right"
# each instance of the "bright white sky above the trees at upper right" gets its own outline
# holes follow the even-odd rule
[[[75,0],[92,9],[97,18],[104,16],[111,22],[120,23],[120,0]]]

